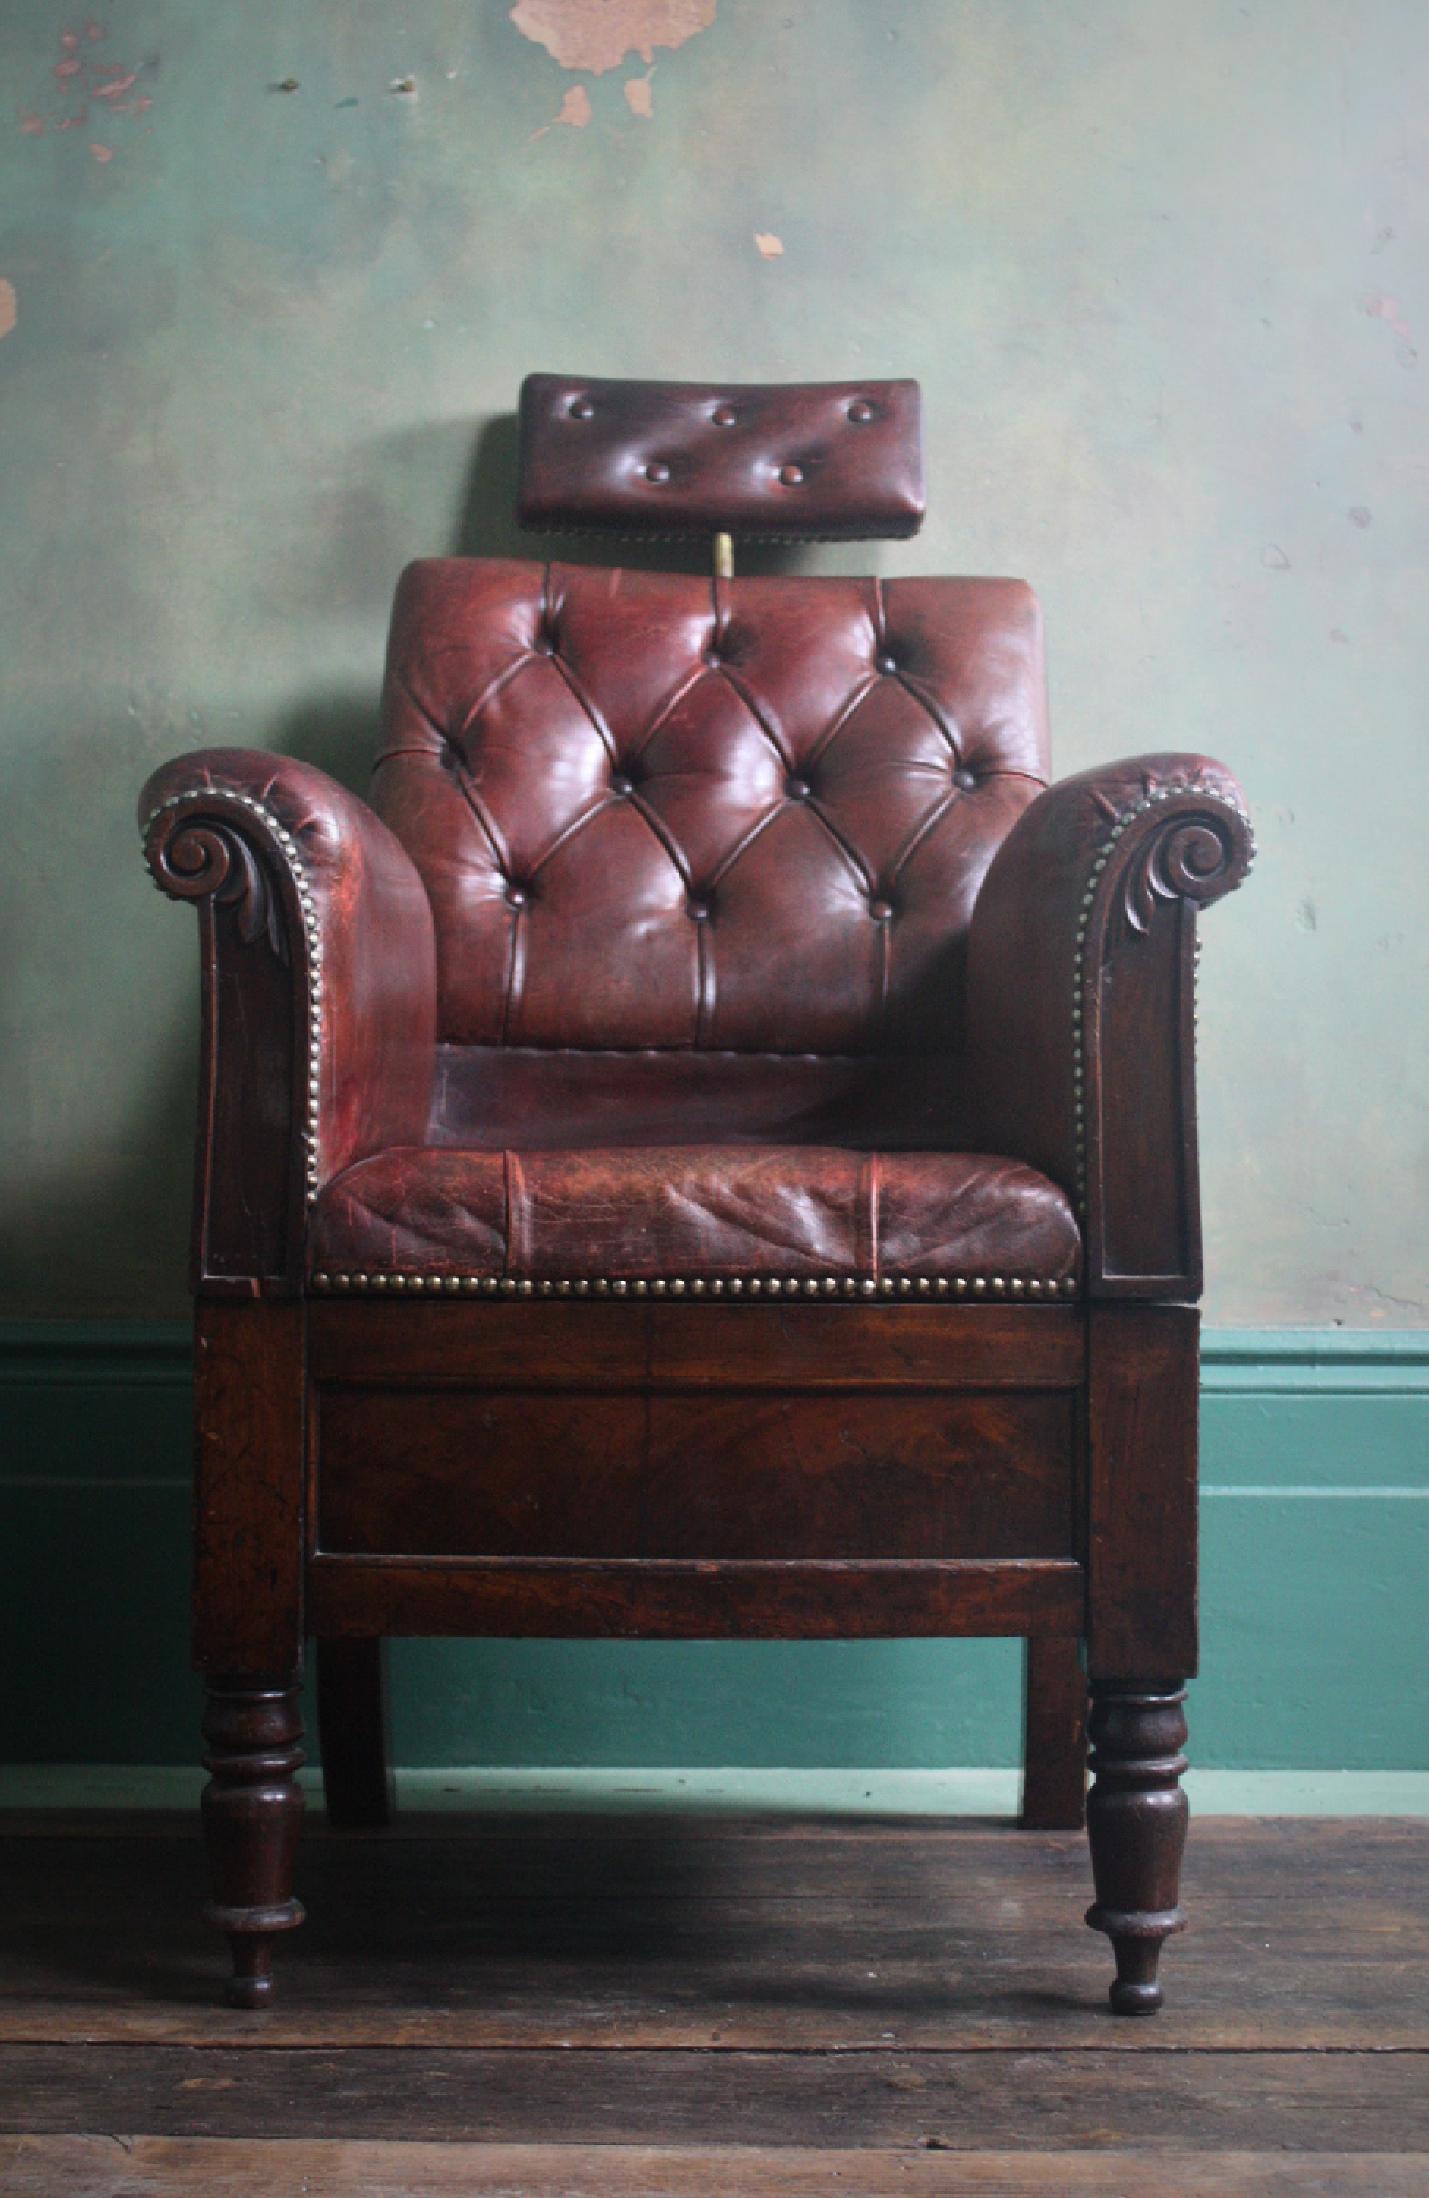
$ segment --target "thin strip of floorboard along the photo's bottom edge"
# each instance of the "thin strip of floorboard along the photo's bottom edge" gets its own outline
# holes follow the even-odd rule
[[[1389,2152],[906,2152],[431,2145],[341,2139],[0,2139],[11,2198],[1422,2198]]]

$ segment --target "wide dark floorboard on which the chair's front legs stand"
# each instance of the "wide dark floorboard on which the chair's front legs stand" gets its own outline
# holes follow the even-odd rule
[[[1079,1833],[488,1820],[308,1838],[273,2011],[220,2002],[191,1827],[0,1842],[0,2040],[1429,2049],[1429,1827],[1194,1827],[1167,2009],[1117,2022]]]

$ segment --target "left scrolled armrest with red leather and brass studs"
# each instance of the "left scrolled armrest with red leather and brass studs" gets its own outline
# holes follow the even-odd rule
[[[427,888],[365,802],[286,756],[178,756],[139,818],[154,884],[200,914],[193,1286],[292,1292],[321,1185],[427,1134]]]

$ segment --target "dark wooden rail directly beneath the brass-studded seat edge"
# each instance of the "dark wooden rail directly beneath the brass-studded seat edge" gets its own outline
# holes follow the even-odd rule
[[[1077,1306],[314,1299],[319,1380],[620,1389],[1068,1389]]]

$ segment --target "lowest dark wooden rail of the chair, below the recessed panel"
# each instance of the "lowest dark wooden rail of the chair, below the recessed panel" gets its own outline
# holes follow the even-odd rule
[[[1084,1574],[1031,1561],[314,1556],[314,1633],[879,1640],[1073,1633]]]

